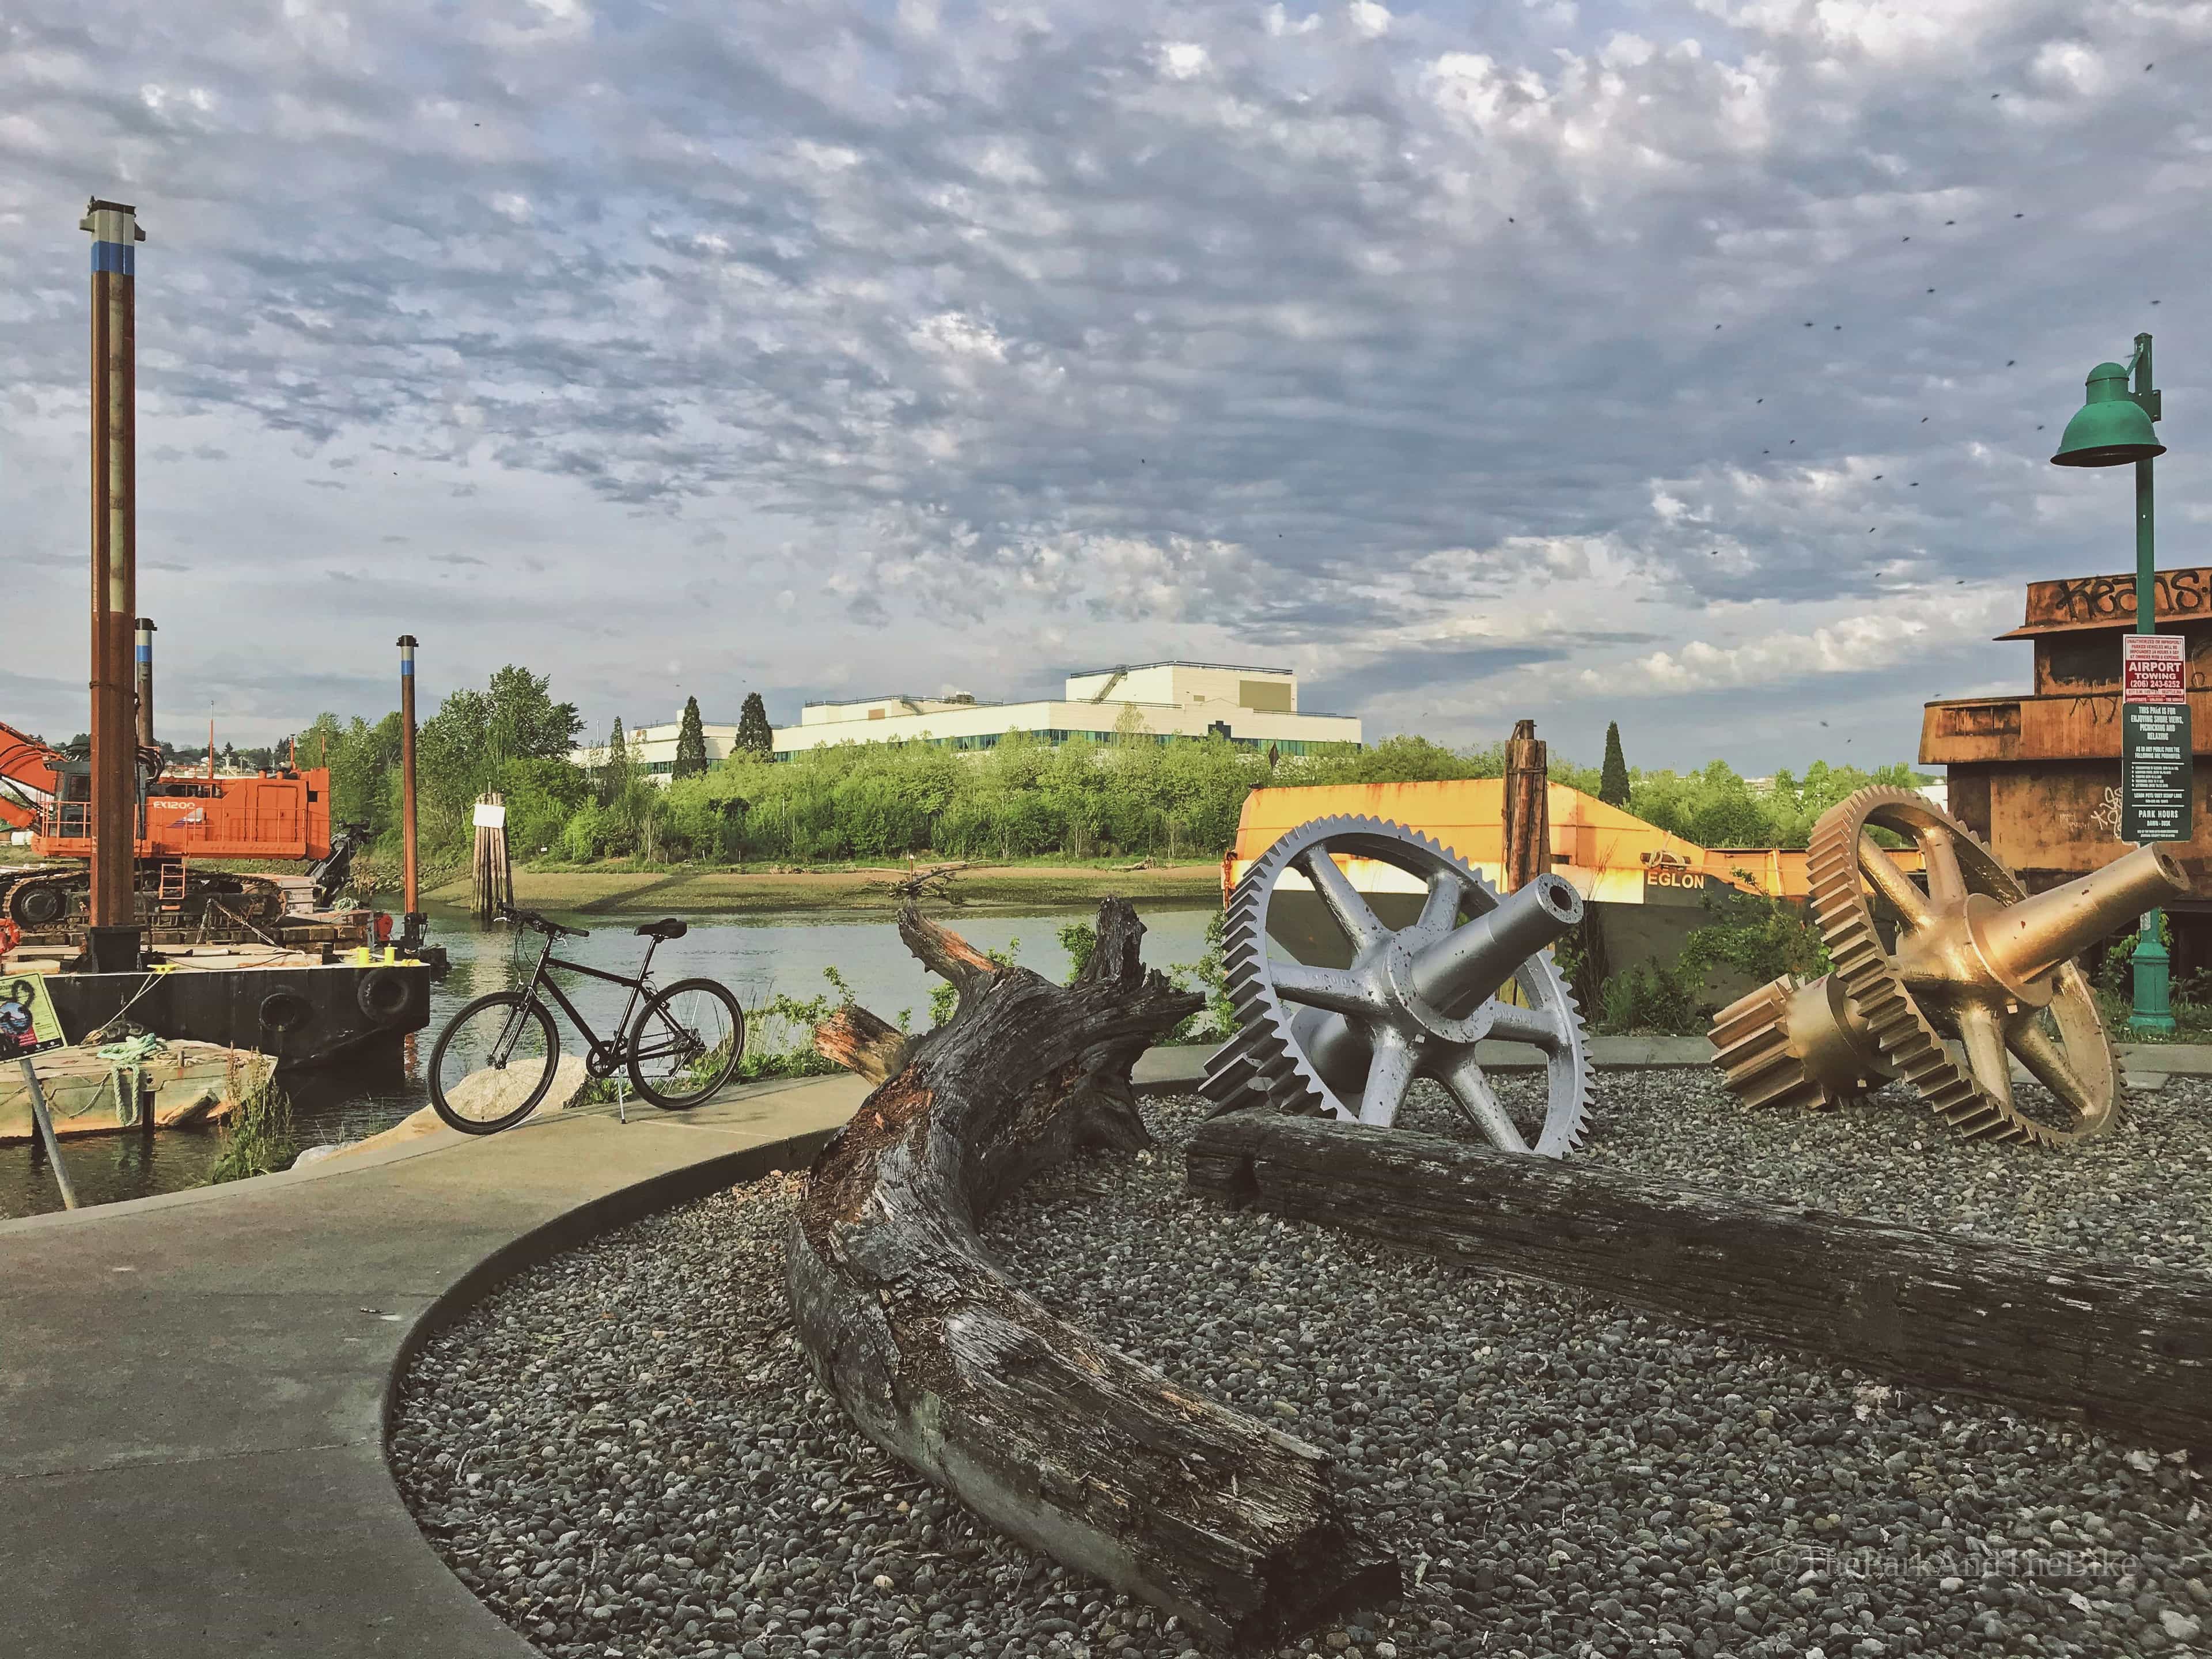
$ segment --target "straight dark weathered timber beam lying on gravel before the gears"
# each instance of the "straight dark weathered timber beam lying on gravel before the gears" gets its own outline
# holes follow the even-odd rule
[[[1469,1267],[1933,1389],[2212,1447],[2212,1279],[1509,1157],[1438,1135],[1237,1113],[1188,1186]]]

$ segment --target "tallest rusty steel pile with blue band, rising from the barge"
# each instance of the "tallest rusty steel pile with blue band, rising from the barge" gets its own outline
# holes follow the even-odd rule
[[[93,197],[93,914],[95,971],[133,971],[137,938],[137,208]]]

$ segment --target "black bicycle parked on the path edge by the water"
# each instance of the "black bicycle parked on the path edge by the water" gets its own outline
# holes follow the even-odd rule
[[[429,1104],[447,1124],[462,1135],[495,1135],[520,1124],[544,1099],[560,1064],[560,1035],[542,991],[553,993],[568,1013],[568,1024],[591,1044],[584,1071],[593,1077],[613,1077],[628,1066],[637,1093],[668,1110],[697,1106],[730,1082],[745,1053],[745,1011],[737,998],[714,980],[677,980],[666,991],[653,989],[653,951],[690,931],[681,920],[668,916],[637,929],[646,940],[646,960],[633,980],[553,956],[555,940],[591,938],[588,929],[562,927],[511,905],[500,905],[500,916],[544,933],[546,945],[529,984],[476,998],[438,1033],[438,1044],[429,1051]],[[546,978],[549,967],[630,989],[613,1037],[602,1040],[591,1029],[560,984]]]

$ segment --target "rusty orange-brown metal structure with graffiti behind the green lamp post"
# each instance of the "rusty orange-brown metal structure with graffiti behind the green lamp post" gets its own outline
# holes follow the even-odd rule
[[[2031,582],[2026,615],[2000,639],[2035,648],[2033,690],[2020,697],[1947,697],[1920,719],[1922,765],[1949,768],[1947,805],[2028,891],[2099,869],[2128,852],[2119,838],[2119,646],[2135,630],[2135,575]],[[2159,571],[2159,633],[2188,646],[2197,754],[2212,752],[2212,566]],[[2212,772],[2199,768],[2199,779]],[[2212,894],[2212,803],[2197,838],[2172,843],[2197,894]],[[2177,962],[2212,960],[2208,900],[2172,907]]]

